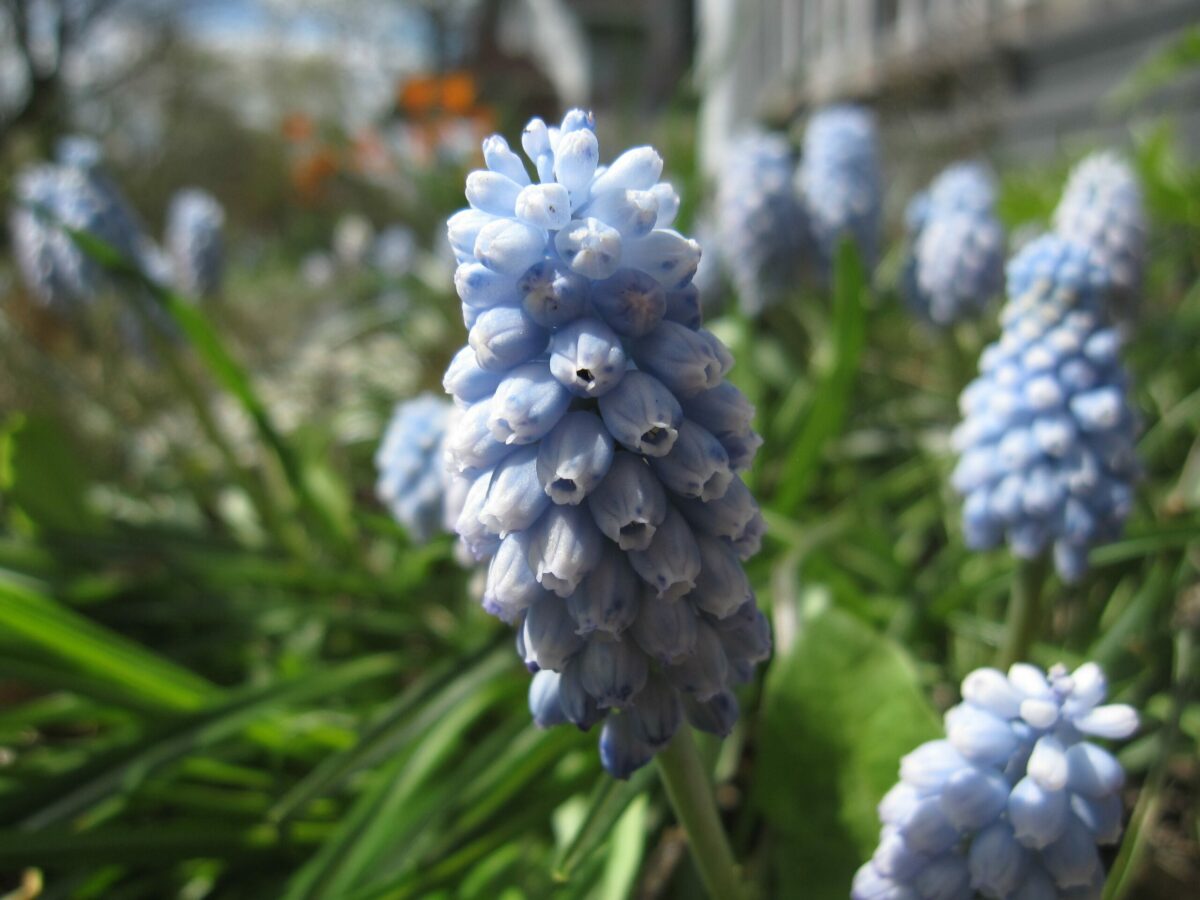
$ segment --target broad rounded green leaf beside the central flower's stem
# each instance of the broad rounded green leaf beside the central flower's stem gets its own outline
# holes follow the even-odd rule
[[[900,757],[938,731],[899,646],[810,604],[764,686],[752,797],[770,826],[772,896],[846,896]]]

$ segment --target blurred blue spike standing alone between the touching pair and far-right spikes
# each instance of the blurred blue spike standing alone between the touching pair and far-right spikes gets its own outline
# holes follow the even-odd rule
[[[906,210],[905,301],[935,325],[978,314],[1004,284],[1004,232],[996,218],[991,174],[956,163]]]

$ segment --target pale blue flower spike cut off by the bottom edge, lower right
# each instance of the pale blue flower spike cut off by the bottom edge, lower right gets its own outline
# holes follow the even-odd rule
[[[1094,662],[968,674],[946,738],[901,760],[851,898],[1099,900],[1097,845],[1121,839],[1124,772],[1091,738],[1138,730],[1132,707],[1100,706],[1106,691]]]

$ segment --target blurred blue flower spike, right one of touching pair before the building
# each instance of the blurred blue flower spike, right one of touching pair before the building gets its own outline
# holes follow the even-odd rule
[[[845,236],[874,266],[883,215],[875,116],[857,106],[818,110],[804,131],[797,184],[824,271]]]

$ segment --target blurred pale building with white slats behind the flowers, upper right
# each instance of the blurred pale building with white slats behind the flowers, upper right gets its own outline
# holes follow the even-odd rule
[[[893,140],[1044,155],[1106,121],[1104,98],[1200,0],[696,0],[703,155],[752,119],[871,103]],[[1200,133],[1200,83],[1165,102]]]

